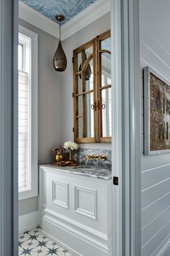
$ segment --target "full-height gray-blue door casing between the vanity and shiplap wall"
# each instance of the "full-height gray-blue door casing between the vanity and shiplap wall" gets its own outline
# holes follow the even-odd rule
[[[112,11],[113,10],[113,11]],[[112,0],[113,255],[140,256],[140,59],[138,0]]]

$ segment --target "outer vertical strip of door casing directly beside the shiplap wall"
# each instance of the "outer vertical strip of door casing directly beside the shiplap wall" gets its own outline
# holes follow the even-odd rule
[[[130,256],[141,254],[141,98],[139,1],[129,0],[130,58]],[[126,198],[128,200],[128,198]]]

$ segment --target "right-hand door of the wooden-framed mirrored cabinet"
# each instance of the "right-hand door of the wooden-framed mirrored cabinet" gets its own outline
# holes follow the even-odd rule
[[[112,79],[111,38],[109,33],[99,36],[99,141],[112,140]]]

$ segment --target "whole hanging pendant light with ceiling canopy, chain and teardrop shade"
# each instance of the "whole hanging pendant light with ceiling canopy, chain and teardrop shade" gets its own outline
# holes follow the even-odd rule
[[[58,42],[58,48],[55,51],[54,57],[53,57],[53,67],[56,71],[62,72],[66,70],[67,67],[67,59],[66,54],[63,51],[63,47],[61,44],[61,22],[65,19],[63,14],[57,14],[55,16],[55,19],[59,22],[59,42]]]

